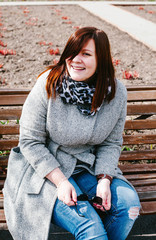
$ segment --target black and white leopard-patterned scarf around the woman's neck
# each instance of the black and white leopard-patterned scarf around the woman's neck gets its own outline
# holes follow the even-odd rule
[[[94,116],[95,111],[91,111],[92,99],[95,92],[94,85],[89,86],[86,82],[72,80],[71,77],[64,77],[62,85],[56,87],[63,103],[75,104],[78,110],[87,116]],[[97,109],[99,111],[100,107]]]

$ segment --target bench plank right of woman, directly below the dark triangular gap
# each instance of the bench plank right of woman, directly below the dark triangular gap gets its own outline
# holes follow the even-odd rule
[[[156,129],[156,119],[127,120],[125,123],[125,129],[126,130]]]

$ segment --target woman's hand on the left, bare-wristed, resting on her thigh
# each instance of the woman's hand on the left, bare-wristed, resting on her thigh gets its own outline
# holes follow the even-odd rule
[[[68,179],[61,182],[57,188],[58,199],[64,202],[68,206],[74,206],[77,202],[77,194],[73,185],[68,181]]]

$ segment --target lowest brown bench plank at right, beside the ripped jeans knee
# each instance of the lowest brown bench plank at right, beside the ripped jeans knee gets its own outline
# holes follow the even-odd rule
[[[156,201],[153,202],[141,202],[142,209],[140,214],[156,214]]]

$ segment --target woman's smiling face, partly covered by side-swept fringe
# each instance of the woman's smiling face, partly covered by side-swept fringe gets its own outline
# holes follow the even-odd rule
[[[78,55],[72,60],[66,59],[67,70],[75,81],[85,81],[96,71],[97,58],[93,39],[88,40]]]

